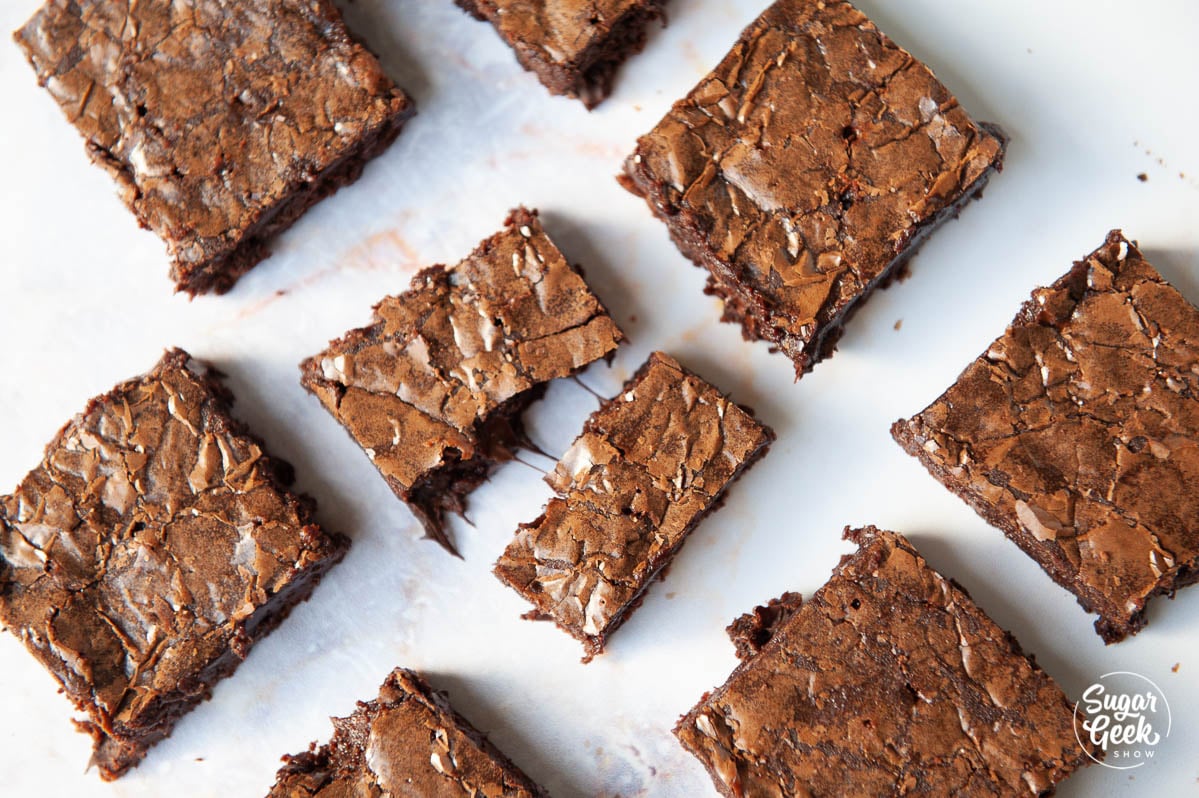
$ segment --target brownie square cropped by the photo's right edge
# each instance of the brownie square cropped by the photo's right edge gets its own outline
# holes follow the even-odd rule
[[[1199,309],[1113,231],[891,433],[1115,642],[1199,580],[1197,364]]]

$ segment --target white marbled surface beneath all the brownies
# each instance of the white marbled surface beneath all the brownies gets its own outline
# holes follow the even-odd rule
[[[0,29],[37,5],[0,4]],[[1071,594],[887,434],[1109,228],[1138,238],[1199,301],[1199,5],[862,0],[1012,144],[986,198],[935,234],[912,277],[874,296],[837,356],[799,383],[785,358],[717,324],[704,273],[613,180],[637,135],[764,0],[674,0],[670,25],[591,114],[549,97],[450,0],[342,5],[420,114],[231,294],[194,302],[171,295],[162,243],[138,230],[17,47],[0,42],[0,486],[38,461],[89,397],[180,345],[229,374],[237,415],[296,465],[320,520],[355,544],[212,701],[113,785],[84,773],[89,743],[53,679],[14,637],[0,637],[0,793],[261,796],[279,755],[326,739],[329,715],[348,714],[406,665],[447,689],[555,796],[715,794],[669,730],[733,669],[724,625],[784,590],[812,593],[849,550],[842,527],[868,522],[911,537],[1072,696],[1111,670],[1163,688],[1174,732],[1157,758],[1131,773],[1089,768],[1060,794],[1199,791],[1199,588],[1159,599],[1144,633],[1104,647]],[[366,324],[370,306],[418,267],[457,261],[519,202],[542,208],[632,339],[610,369],[584,375],[588,385],[611,394],[651,349],[665,349],[779,436],[586,666],[576,641],[520,621],[528,606],[489,573],[549,495],[536,471],[510,464],[472,496],[477,526],[453,524],[465,555],[454,560],[417,539],[409,512],[297,382],[302,357]],[[553,386],[530,413],[534,439],[560,453],[594,407],[579,386]]]

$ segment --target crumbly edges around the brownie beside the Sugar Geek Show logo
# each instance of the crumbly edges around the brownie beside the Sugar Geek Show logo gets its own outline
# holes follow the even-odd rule
[[[880,536],[893,536],[899,540],[908,542],[906,538],[896,532],[886,532],[873,525],[863,527],[845,526],[844,531],[842,532],[842,539],[856,544],[858,549],[857,551],[842,555],[840,561],[833,568],[832,574],[830,575],[827,581],[837,579],[842,574],[842,570],[856,557],[862,556],[862,552],[866,549],[866,546],[869,545]],[[908,544],[909,546],[911,545],[910,542],[908,542]],[[914,546],[912,551],[916,551]],[[920,556],[918,551],[916,551],[916,554],[917,556]],[[966,588],[963,587],[960,584],[958,584],[957,580],[942,575],[940,572],[935,570],[932,566],[927,567],[930,570],[933,570],[933,573],[940,575],[954,590],[960,591],[966,599],[974,601],[974,598],[970,596],[970,592],[966,591]],[[823,588],[824,586],[818,588],[817,592],[819,592]],[[681,734],[681,731],[687,725],[697,726],[698,725],[697,718],[699,717],[701,709],[704,709],[707,705],[710,705],[713,697],[723,695],[727,691],[728,687],[733,684],[737,679],[737,677],[740,677],[745,671],[747,671],[752,666],[753,661],[757,659],[759,654],[761,654],[765,651],[770,651],[773,646],[778,645],[776,642],[777,640],[776,633],[782,627],[784,627],[787,622],[802,607],[802,601],[803,601],[802,596],[800,596],[799,593],[785,592],[778,598],[771,599],[765,606],[754,607],[754,610],[752,610],[746,615],[740,616],[731,624],[729,624],[727,631],[729,634],[730,641],[737,649],[737,657],[741,661],[719,687],[704,693],[704,695],[700,696],[699,701],[697,701],[695,705],[689,711],[687,711],[679,718],[677,723],[671,730],[671,733],[675,736],[675,739],[679,740],[679,744],[682,745],[682,748],[688,754],[699,760],[699,762],[704,766],[704,769],[707,772],[709,778],[712,780],[712,785],[716,787],[717,792],[719,792],[724,798],[742,798],[742,796],[740,792],[734,792],[733,788],[729,788],[725,785],[725,780],[721,776],[721,774],[716,769],[716,763],[709,761],[707,757],[703,756],[701,751],[695,750],[694,748],[688,745],[687,740]],[[978,607],[977,604],[975,604],[975,606],[977,607],[980,613],[990,619],[990,622],[995,625],[995,628],[999,629],[999,631],[1004,635],[1005,642],[1011,647],[1011,651],[1014,655],[1023,657],[1024,659],[1026,659],[1035,671],[1046,676],[1046,678],[1048,678],[1054,685],[1058,687],[1059,690],[1061,690],[1061,685],[1058,684],[1056,679],[1046,673],[1044,669],[1042,669],[1037,664],[1036,657],[1034,654],[1025,652],[1024,648],[1020,646],[1020,642],[1016,639],[1014,635],[1012,635],[1011,631],[995,623],[995,621],[992,619],[990,616],[987,615],[984,610],[982,610],[982,607]],[[760,633],[763,642],[757,646],[753,645],[753,642],[745,636],[743,633],[746,630]],[[746,652],[745,657],[741,655],[742,651]],[[1062,693],[1062,695],[1064,697],[1066,697],[1068,702],[1070,701],[1068,696],[1065,696],[1065,693]],[[1081,748],[1080,754],[1077,757],[1074,757],[1074,760],[1061,763],[1060,766],[1062,772],[1061,778],[1058,781],[1055,781],[1047,791],[1040,792],[1037,794],[1046,797],[1054,794],[1055,787],[1060,781],[1067,779],[1076,770],[1078,770],[1078,768],[1089,764],[1089,761],[1091,760],[1099,761],[1101,758],[1103,758],[1103,752],[1098,750],[1096,746],[1091,745],[1089,748]]]

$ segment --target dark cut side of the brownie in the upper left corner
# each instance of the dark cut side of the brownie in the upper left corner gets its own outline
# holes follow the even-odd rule
[[[195,297],[198,294],[225,294],[237,279],[267,258],[271,253],[271,238],[290,228],[313,205],[335,194],[339,188],[349,186],[362,176],[368,161],[378,157],[399,135],[404,123],[416,113],[412,102],[398,89],[394,95],[396,110],[382,125],[367,131],[359,146],[335,162],[313,180],[291,187],[287,199],[273,208],[265,211],[254,226],[246,230],[236,247],[223,256],[207,260],[199,265],[175,261],[170,267],[170,277],[175,280],[175,290]],[[119,168],[104,153],[89,145],[92,161],[108,168]],[[147,228],[138,216],[138,223]]]

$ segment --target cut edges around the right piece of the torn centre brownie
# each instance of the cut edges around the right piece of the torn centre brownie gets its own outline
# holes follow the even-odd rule
[[[662,358],[667,358],[667,362],[668,362],[669,365],[677,367],[685,375],[692,376],[692,377],[694,377],[697,380],[700,380],[701,382],[704,382],[706,385],[711,385],[706,380],[704,380],[703,377],[700,377],[697,374],[694,374],[693,371],[688,370],[686,367],[679,364],[679,362],[675,361],[669,355],[665,355],[664,352],[655,351],[655,352],[652,352],[650,355],[649,359],[646,359],[646,362],[643,363],[641,367],[637,369],[637,371],[633,374],[633,376],[631,376],[628,380],[625,381],[625,385],[621,386],[620,391],[615,394],[615,397],[613,397],[610,399],[605,399],[603,403],[601,403],[600,407],[594,413],[591,413],[591,416],[588,417],[588,421],[583,425],[583,431],[579,435],[582,436],[582,435],[586,435],[588,433],[594,433],[595,431],[595,418],[601,412],[603,412],[603,410],[605,407],[608,407],[609,405],[615,404],[629,389],[632,389],[633,387],[635,387],[637,383],[640,382],[640,380],[649,371],[649,369],[652,368],[655,364],[662,362]],[[713,388],[715,388],[715,386],[713,386]],[[550,615],[543,613],[540,609],[536,609],[536,601],[532,600],[531,593],[529,591],[526,591],[526,590],[523,590],[520,586],[513,584],[512,581],[510,581],[505,576],[505,574],[504,574],[502,569],[500,568],[499,563],[496,563],[495,568],[492,569],[492,573],[495,574],[495,576],[500,581],[502,581],[505,585],[507,585],[508,587],[511,587],[514,591],[517,591],[517,593],[519,593],[522,596],[522,598],[529,600],[530,603],[532,603],[535,605],[535,609],[531,610],[531,611],[529,611],[529,612],[526,612],[523,617],[529,618],[529,619],[535,619],[535,621],[553,621],[554,625],[556,625],[559,629],[561,629],[562,631],[567,633],[568,635],[571,635],[572,637],[574,637],[576,640],[578,640],[579,642],[582,642],[583,647],[584,647],[584,652],[585,652],[584,655],[583,655],[583,659],[580,660],[583,664],[588,664],[592,659],[595,659],[596,657],[598,657],[600,654],[602,654],[603,649],[604,649],[604,646],[608,642],[608,637],[610,637],[611,634],[616,629],[619,629],[621,627],[621,624],[623,624],[625,621],[627,621],[628,617],[634,611],[637,611],[637,609],[641,605],[641,603],[645,601],[645,597],[649,593],[650,586],[655,581],[658,581],[662,578],[664,578],[667,569],[670,567],[670,563],[674,561],[675,556],[677,556],[679,550],[682,548],[682,545],[691,537],[692,532],[695,531],[695,528],[704,521],[704,519],[706,519],[709,515],[711,515],[712,513],[715,513],[716,510],[718,510],[721,507],[724,506],[724,501],[728,498],[728,490],[733,485],[733,483],[737,482],[741,478],[741,474],[743,474],[746,472],[746,470],[749,468],[749,466],[754,465],[758,460],[760,460],[763,457],[765,457],[766,452],[770,451],[771,445],[777,439],[777,436],[775,434],[775,430],[770,425],[767,425],[767,424],[765,424],[765,423],[763,423],[763,422],[760,422],[760,421],[757,419],[757,417],[755,417],[752,407],[748,407],[746,405],[740,405],[740,404],[737,406],[746,415],[748,415],[751,417],[754,417],[754,421],[758,423],[758,425],[761,429],[763,442],[758,446],[758,448],[755,448],[753,452],[751,452],[746,457],[745,460],[741,461],[741,465],[737,466],[736,471],[733,472],[733,476],[729,477],[729,480],[727,483],[724,483],[724,485],[722,485],[721,490],[715,496],[712,496],[712,500],[709,502],[707,507],[705,507],[701,513],[697,514],[695,518],[693,518],[691,520],[691,522],[686,526],[686,528],[679,536],[679,540],[673,546],[670,546],[669,549],[663,549],[658,554],[657,557],[652,558],[649,562],[649,570],[646,573],[645,579],[641,582],[640,590],[638,590],[637,593],[633,594],[633,597],[629,598],[623,604],[623,606],[621,606],[616,612],[613,613],[611,619],[603,628],[603,631],[601,634],[589,635],[589,634],[584,633],[582,630],[582,628],[577,629],[577,628],[567,627],[567,625],[560,623],[558,621],[558,618],[555,618],[555,617],[553,617]],[[564,501],[564,500],[560,496],[555,496],[555,497],[550,498],[550,502],[561,502],[561,501]],[[522,528],[522,530],[524,530],[524,528],[534,528],[537,525],[540,525],[542,522],[542,520],[544,520],[544,518],[546,518],[546,513],[543,512],[534,521],[531,521],[529,524],[522,524],[519,528]]]

